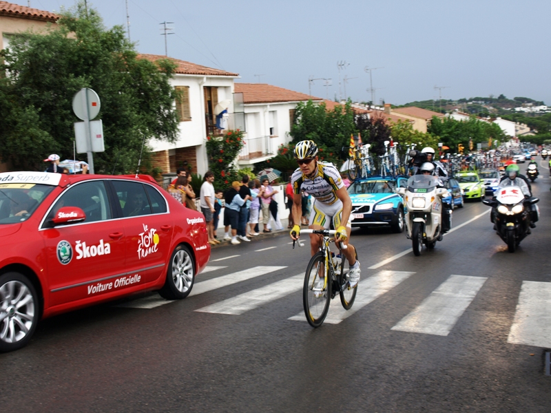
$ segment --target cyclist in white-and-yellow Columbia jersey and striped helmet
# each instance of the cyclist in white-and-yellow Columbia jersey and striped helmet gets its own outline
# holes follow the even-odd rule
[[[360,281],[360,262],[356,260],[354,246],[349,244],[352,229],[350,220],[352,201],[349,193],[346,192],[340,173],[333,164],[318,161],[318,146],[313,140],[298,142],[294,155],[299,167],[291,177],[294,192],[291,210],[293,220],[300,222],[301,191],[304,190],[314,198],[309,229],[330,229],[333,224],[333,228],[337,230],[335,242],[342,242],[348,246],[342,250],[342,253],[349,260],[350,286],[354,288]],[[299,235],[300,226],[295,224],[291,229],[291,239],[298,240]],[[321,240],[318,235],[310,235],[310,246],[312,255],[320,251]],[[319,282],[323,282],[323,278],[320,278]]]

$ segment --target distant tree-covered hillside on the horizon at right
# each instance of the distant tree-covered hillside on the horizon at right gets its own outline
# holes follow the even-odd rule
[[[442,113],[458,109],[461,112],[474,114],[477,116],[501,116],[514,113],[512,109],[515,107],[535,107],[541,105],[545,105],[545,103],[543,103],[543,101],[523,98],[520,96],[508,99],[506,96],[501,94],[497,98],[494,96],[488,96],[487,98],[477,96],[475,98],[461,98],[459,100],[416,100],[415,102],[409,102],[399,107],[415,106]],[[534,113],[529,114],[528,116],[541,116],[541,114]]]

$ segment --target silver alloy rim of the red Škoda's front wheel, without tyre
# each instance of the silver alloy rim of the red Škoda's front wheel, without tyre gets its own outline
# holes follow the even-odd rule
[[[29,288],[12,280],[0,286],[0,340],[17,343],[28,335],[34,321],[34,299]]]

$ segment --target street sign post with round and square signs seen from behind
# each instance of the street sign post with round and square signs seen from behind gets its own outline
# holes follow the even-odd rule
[[[83,127],[84,127],[84,133],[85,133],[86,153],[88,154],[88,166],[90,167],[90,173],[94,173],[94,158],[92,156],[92,152],[98,152],[98,151],[94,151],[94,147],[96,147],[96,149],[98,148],[103,149],[103,126],[101,125],[101,123],[100,123],[101,145],[97,145],[97,144],[92,145],[93,135],[92,135],[92,131],[90,130],[90,120],[98,116],[100,107],[101,107],[101,102],[99,100],[98,94],[96,94],[96,92],[94,92],[92,89],[89,89],[87,87],[83,87],[83,89],[80,89],[79,92],[76,92],[76,94],[73,97],[73,112],[78,118],[84,120]],[[75,133],[76,133],[76,129],[77,129],[77,126],[75,124]],[[96,136],[97,135],[98,133],[96,133]],[[80,149],[83,150],[84,148],[81,147]]]

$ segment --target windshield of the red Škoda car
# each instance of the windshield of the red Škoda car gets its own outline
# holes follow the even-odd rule
[[[0,184],[0,224],[28,220],[52,189],[42,184]]]

